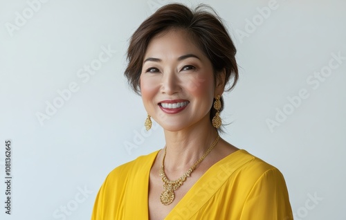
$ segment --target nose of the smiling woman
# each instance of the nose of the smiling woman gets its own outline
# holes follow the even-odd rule
[[[173,70],[165,71],[161,81],[161,93],[172,95],[179,91],[181,91],[181,86],[178,75]]]

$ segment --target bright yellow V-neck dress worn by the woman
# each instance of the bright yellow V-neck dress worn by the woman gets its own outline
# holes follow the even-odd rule
[[[149,172],[158,151],[113,169],[98,192],[92,220],[148,219]],[[239,149],[212,165],[165,220],[293,219],[281,172]]]

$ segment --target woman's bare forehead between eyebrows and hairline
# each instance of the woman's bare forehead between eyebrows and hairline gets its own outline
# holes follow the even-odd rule
[[[186,53],[196,53],[203,56],[203,51],[194,42],[186,30],[170,29],[155,35],[147,46],[145,57],[174,57]]]

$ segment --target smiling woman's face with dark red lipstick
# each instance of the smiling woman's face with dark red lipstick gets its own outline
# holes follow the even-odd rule
[[[220,87],[220,86],[219,86]],[[184,30],[169,30],[149,43],[140,75],[147,113],[168,131],[211,125],[215,88],[212,64]]]

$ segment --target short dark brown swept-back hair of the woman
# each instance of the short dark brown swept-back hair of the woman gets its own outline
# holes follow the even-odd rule
[[[235,60],[237,50],[228,35],[221,18],[209,6],[199,5],[194,10],[179,3],[172,3],[159,8],[153,15],[145,19],[131,36],[127,49],[128,65],[125,76],[132,89],[140,94],[140,74],[147,46],[158,33],[172,28],[186,30],[196,45],[210,59],[214,69],[214,78],[221,71],[226,72],[225,84],[233,77],[230,89],[238,80],[238,68]],[[216,82],[216,80],[215,80]],[[221,98],[221,110],[224,100]],[[215,116],[215,109],[210,110],[210,120]]]

